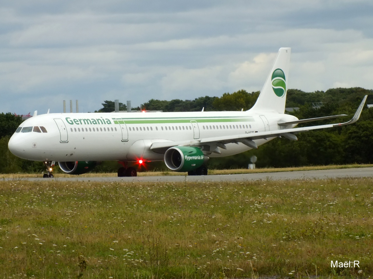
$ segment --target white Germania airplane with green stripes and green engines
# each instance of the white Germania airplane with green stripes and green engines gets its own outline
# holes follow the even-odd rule
[[[101,161],[122,166],[118,176],[137,176],[136,163],[164,161],[172,171],[207,175],[211,157],[238,154],[284,137],[356,122],[363,98],[348,122],[294,128],[299,123],[344,115],[298,119],[285,114],[291,48],[280,48],[254,106],[246,111],[154,113],[47,113],[24,121],[9,140],[16,156],[43,161],[53,177],[55,162],[68,174],[83,174]],[[49,112],[49,111],[48,111]]]

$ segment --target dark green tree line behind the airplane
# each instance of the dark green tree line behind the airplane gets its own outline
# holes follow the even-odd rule
[[[326,92],[303,92],[298,89],[289,89],[286,98],[286,107],[299,108],[288,112],[299,119],[315,118],[328,115],[348,114],[338,119],[329,119],[318,122],[309,122],[303,125],[321,125],[348,121],[355,113],[363,96],[368,94],[367,104],[373,103],[373,90],[360,87],[329,89]],[[186,111],[222,111],[222,110],[248,110],[259,95],[259,92],[248,93],[239,90],[233,93],[224,93],[221,97],[199,97],[194,100],[156,100],[151,99],[141,108],[146,110],[163,110],[164,112]],[[315,108],[313,103],[321,106]],[[114,102],[106,100],[103,107],[97,112],[111,112]],[[126,106],[120,103],[120,110]],[[256,155],[257,167],[292,167],[327,164],[367,164],[373,163],[373,108],[367,106],[361,113],[360,120],[352,125],[335,128],[302,132],[297,134],[298,141],[285,138],[274,139],[241,154],[223,158],[211,158],[210,169],[247,168],[250,157]],[[17,127],[21,124],[20,116],[12,113],[0,114],[0,173],[38,172],[44,169],[41,162],[23,160],[14,156],[7,148],[7,142]],[[301,126],[301,124],[299,125]],[[105,162],[95,171],[116,171],[116,162]],[[148,169],[167,170],[163,163],[151,163]]]

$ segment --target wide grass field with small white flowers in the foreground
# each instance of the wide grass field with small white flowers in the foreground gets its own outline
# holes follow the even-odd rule
[[[3,278],[368,278],[373,179],[0,182]],[[331,261],[360,261],[334,268]]]

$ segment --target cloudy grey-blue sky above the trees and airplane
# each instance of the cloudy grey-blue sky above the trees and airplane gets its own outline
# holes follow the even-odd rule
[[[0,112],[260,90],[280,47],[289,88],[373,89],[373,1],[0,0]]]

